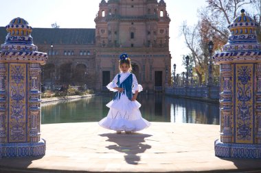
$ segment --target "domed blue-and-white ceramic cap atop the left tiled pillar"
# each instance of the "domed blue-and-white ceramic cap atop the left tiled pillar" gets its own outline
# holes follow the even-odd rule
[[[31,36],[32,27],[23,18],[14,18],[5,26],[8,31],[5,43],[1,44],[0,60],[2,62],[30,62],[45,64],[47,53],[38,52]]]

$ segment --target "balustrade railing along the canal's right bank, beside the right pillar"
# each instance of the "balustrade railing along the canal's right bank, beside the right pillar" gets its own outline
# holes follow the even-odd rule
[[[188,88],[165,88],[165,94],[174,96],[192,97],[192,98],[209,98],[218,101],[220,87],[219,86],[203,86]]]

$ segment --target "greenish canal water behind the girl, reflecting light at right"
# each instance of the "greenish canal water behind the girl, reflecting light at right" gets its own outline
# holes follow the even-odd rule
[[[98,122],[109,107],[113,94],[102,94],[77,101],[42,105],[42,124],[65,122]],[[174,98],[163,94],[139,94],[143,118],[150,122],[220,124],[219,104]]]

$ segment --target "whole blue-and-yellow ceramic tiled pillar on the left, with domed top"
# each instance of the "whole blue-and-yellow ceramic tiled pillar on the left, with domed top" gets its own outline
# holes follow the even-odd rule
[[[0,51],[0,158],[45,155],[40,138],[41,65],[47,54],[37,51],[23,18],[6,26]]]

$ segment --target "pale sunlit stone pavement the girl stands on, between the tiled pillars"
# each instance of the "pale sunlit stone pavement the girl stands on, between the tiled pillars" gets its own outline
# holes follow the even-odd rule
[[[0,172],[261,172],[261,160],[214,156],[217,125],[152,122],[131,135],[97,122],[41,128],[46,155],[0,159]]]

